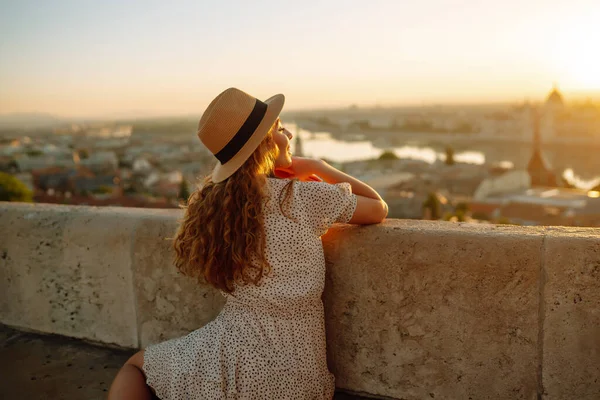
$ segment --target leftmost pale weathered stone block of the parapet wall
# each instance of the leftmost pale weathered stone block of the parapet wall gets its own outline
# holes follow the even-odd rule
[[[2,210],[2,322],[136,346],[130,239],[138,217],[114,208],[22,204]]]

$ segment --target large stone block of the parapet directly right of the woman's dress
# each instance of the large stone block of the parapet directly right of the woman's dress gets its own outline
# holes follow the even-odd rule
[[[326,236],[337,386],[402,399],[535,399],[540,229],[393,221]]]

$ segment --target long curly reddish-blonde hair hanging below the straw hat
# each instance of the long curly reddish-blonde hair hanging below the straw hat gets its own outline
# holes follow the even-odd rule
[[[232,293],[234,282],[258,285],[269,273],[262,200],[279,154],[272,129],[233,175],[219,183],[209,175],[190,195],[173,241],[174,264],[184,275]],[[286,185],[283,200],[280,195],[282,212],[291,188]]]

